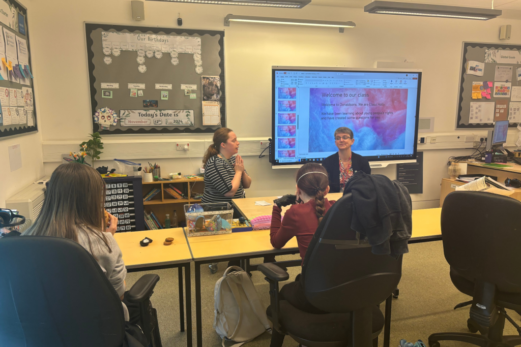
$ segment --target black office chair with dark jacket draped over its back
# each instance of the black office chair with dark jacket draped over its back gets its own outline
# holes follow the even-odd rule
[[[333,204],[309,243],[302,267],[306,298],[330,313],[302,312],[279,300],[279,282],[287,280],[288,273],[270,263],[257,267],[270,284],[267,315],[274,329],[307,347],[372,346],[384,325],[377,305],[400,282],[402,256],[371,253],[367,241],[357,240],[359,234],[350,227],[352,213],[351,194]]]

